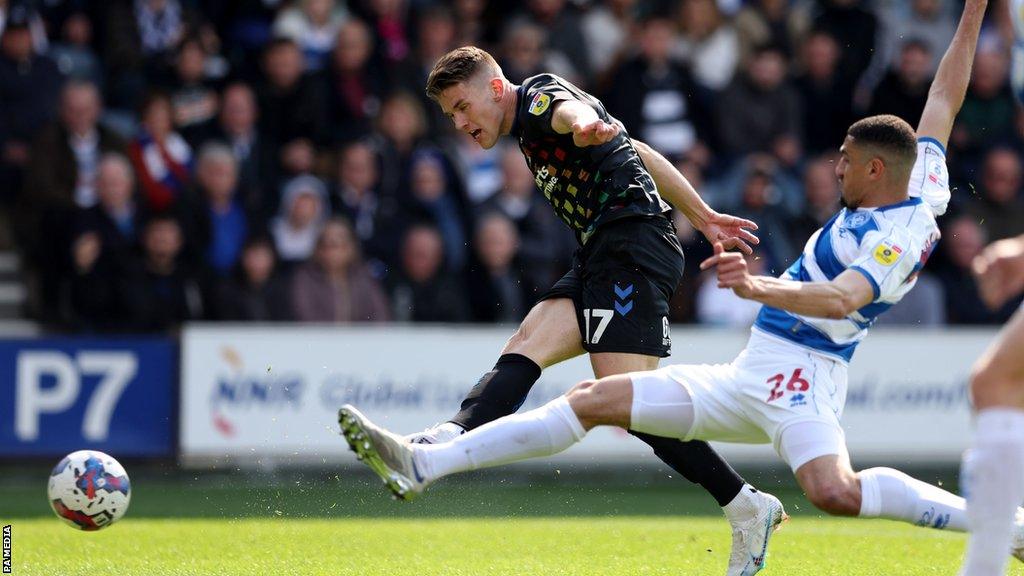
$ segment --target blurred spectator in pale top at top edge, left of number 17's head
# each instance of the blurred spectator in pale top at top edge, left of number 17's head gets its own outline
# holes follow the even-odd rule
[[[305,69],[316,71],[327,64],[345,22],[344,4],[335,0],[299,0],[285,8],[273,23],[273,34],[295,42],[302,50]]]

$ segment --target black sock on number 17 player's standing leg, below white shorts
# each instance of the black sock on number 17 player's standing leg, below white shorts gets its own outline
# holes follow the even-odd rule
[[[707,442],[683,442],[632,430],[630,434],[647,443],[655,456],[683,478],[702,486],[720,506],[731,502],[743,487],[742,477]]]

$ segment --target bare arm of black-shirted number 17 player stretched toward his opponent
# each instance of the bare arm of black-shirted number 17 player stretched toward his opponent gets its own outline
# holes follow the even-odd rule
[[[760,240],[749,231],[758,230],[758,224],[728,214],[719,214],[700,198],[686,176],[666,157],[638,139],[633,139],[633,147],[637,149],[637,154],[654,179],[662,198],[682,212],[709,242],[721,242],[727,250],[738,248],[745,254],[753,253],[748,242],[758,244]]]

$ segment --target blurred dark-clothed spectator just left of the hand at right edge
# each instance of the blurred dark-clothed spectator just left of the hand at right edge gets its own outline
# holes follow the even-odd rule
[[[991,312],[978,296],[971,262],[989,241],[985,231],[971,216],[961,216],[946,224],[942,235],[951,269],[941,271],[946,295],[946,317],[951,324],[1004,323],[1020,305],[1020,298]]]

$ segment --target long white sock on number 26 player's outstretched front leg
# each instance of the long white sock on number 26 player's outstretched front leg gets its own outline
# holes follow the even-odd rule
[[[416,461],[433,481],[455,472],[557,454],[586,434],[568,399],[561,396],[536,410],[488,422],[452,442],[417,447]]]

